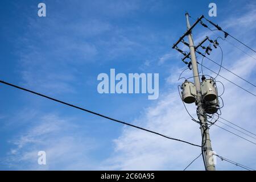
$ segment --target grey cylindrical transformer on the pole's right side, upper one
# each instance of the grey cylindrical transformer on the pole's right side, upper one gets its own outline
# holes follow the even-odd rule
[[[214,85],[214,81],[211,79],[205,79],[201,83],[201,91],[204,101],[214,101],[217,98],[217,92]]]

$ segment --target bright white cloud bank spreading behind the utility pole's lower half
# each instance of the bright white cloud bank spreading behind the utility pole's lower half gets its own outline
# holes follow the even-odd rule
[[[243,26],[249,26],[249,24],[255,22],[255,20],[243,20],[250,18],[248,16],[251,16],[251,14],[248,13],[242,18],[238,18],[243,22]],[[236,17],[233,17],[231,22],[236,22],[236,19]],[[233,34],[236,34],[238,31],[240,30],[236,23],[236,28],[233,27]],[[246,35],[246,37],[244,37],[245,39],[254,39],[255,41],[255,38],[251,36],[251,32],[244,30],[243,35]],[[225,49],[225,51],[231,52],[224,59],[224,64],[227,65],[226,67],[253,82],[254,80],[251,79],[250,76],[253,74],[256,67],[255,60],[244,55],[241,56],[241,54],[237,52],[236,54],[233,47]],[[170,59],[171,56],[170,53],[162,56],[159,59],[159,63],[164,63],[164,61]],[[180,69],[176,70],[177,72],[180,71]],[[177,72],[172,72],[171,76],[167,78],[166,81],[169,84],[177,84],[177,81],[175,81],[178,77]],[[186,75],[187,73],[184,74]],[[212,73],[210,74],[212,75]],[[246,82],[230,75],[230,73],[223,69],[221,75],[250,89],[251,92],[256,92],[255,88],[249,87]],[[222,97],[225,106],[222,109],[222,117],[246,129],[255,131],[255,97],[220,77],[218,77],[217,80],[221,80],[225,85],[225,94]],[[155,106],[147,108],[140,118],[135,119],[134,123],[171,137],[200,144],[199,126],[191,121],[191,118],[184,110],[177,89],[168,90],[168,92],[161,94],[165,94],[166,96],[162,97]],[[196,117],[195,105],[187,105],[187,107],[188,110],[193,113],[192,115]],[[221,123],[218,123],[218,125],[222,126]],[[254,144],[226,133],[215,126],[210,128],[210,135],[213,150],[215,150],[218,155],[256,168],[254,155],[256,150]],[[114,140],[114,143],[115,152],[109,159],[102,163],[102,169],[180,170],[184,169],[193,158],[200,154],[200,148],[188,146],[184,143],[175,142],[128,127],[123,129],[123,133],[119,138]],[[232,164],[221,162],[221,160],[217,160],[216,168],[241,169]],[[202,159],[197,159],[189,169],[204,169]]]

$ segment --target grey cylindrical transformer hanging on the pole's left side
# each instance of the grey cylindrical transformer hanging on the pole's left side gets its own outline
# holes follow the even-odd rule
[[[196,101],[196,87],[190,81],[185,81],[182,85],[182,99],[185,103],[191,104]]]

